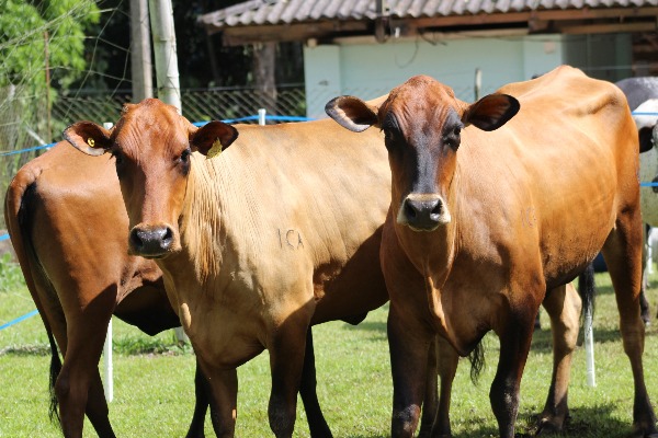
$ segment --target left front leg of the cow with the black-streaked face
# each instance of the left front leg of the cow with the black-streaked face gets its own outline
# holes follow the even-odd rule
[[[412,437],[426,393],[428,355],[434,334],[416,319],[406,321],[392,301],[388,313],[388,345],[393,374],[392,436]]]

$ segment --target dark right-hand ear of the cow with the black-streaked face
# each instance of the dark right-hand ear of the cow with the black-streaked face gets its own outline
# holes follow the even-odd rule
[[[472,104],[464,115],[464,125],[474,125],[481,130],[495,130],[509,122],[521,105],[508,94],[489,94]]]

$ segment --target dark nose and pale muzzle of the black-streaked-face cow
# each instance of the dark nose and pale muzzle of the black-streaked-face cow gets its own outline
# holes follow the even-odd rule
[[[415,231],[434,231],[450,223],[451,216],[441,196],[411,194],[402,201],[397,221]]]

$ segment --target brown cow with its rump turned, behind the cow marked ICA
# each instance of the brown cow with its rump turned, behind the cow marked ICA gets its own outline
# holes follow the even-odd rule
[[[112,313],[150,335],[180,325],[156,263],[127,254],[128,217],[114,160],[86,157],[63,141],[16,173],[4,215],[50,339],[52,414],[59,402],[67,437],[82,435],[84,413],[99,436],[114,436],[98,369]],[[321,435],[328,428],[315,392],[310,331],[308,336],[302,397],[310,430]],[[195,382],[189,437],[204,435],[208,405],[198,370]]]

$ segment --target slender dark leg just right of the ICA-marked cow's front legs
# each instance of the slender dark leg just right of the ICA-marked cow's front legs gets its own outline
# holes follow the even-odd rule
[[[313,345],[313,330],[309,326],[306,332],[306,354],[304,355],[304,369],[302,371],[302,383],[299,394],[308,418],[308,429],[314,438],[331,437],[331,430],[327,425],[317,393],[317,379],[315,368],[315,350]]]

